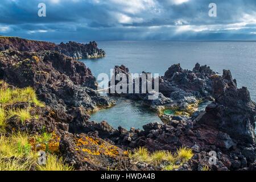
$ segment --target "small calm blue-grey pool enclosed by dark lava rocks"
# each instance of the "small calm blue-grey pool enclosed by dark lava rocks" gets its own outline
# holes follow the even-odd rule
[[[135,129],[143,129],[143,125],[151,122],[162,123],[158,115],[154,112],[141,106],[138,101],[131,101],[125,98],[114,98],[117,105],[110,109],[100,110],[91,115],[90,121],[108,121],[108,123],[117,128],[130,130],[131,127]]]

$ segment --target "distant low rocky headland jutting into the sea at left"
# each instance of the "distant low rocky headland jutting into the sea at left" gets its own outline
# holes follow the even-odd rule
[[[98,49],[96,42],[90,42],[89,44],[68,42],[57,45],[50,42],[0,36],[0,51],[6,50],[22,52],[57,51],[74,59],[92,59],[105,56],[105,52]]]

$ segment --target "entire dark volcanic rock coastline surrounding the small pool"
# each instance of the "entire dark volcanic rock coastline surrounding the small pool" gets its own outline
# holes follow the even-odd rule
[[[192,71],[175,64],[160,77],[157,100],[148,100],[148,94],[119,95],[142,101],[142,107],[158,112],[164,122],[148,123],[143,126],[144,130],[131,128],[128,131],[122,127],[114,129],[107,121],[89,122],[92,111],[115,105],[111,96],[101,96],[96,91],[96,78],[89,68],[76,60],[105,56],[104,51],[97,49],[97,43],[56,45],[0,38],[0,51],[0,96],[4,98],[6,92],[16,94],[21,92],[17,89],[32,88],[43,103],[11,99],[10,102],[0,97],[4,113],[29,108],[31,115],[23,122],[18,121],[18,114],[7,117],[6,124],[0,125],[2,138],[26,133],[33,150],[45,150],[61,157],[75,170],[256,169],[255,103],[247,88],[237,88],[230,71],[224,70],[220,76],[198,63]],[[129,75],[124,65],[114,70]],[[202,102],[209,104],[199,111]],[[51,135],[47,147],[46,143],[34,139],[46,134]],[[191,156],[188,160],[175,158],[172,167],[167,168],[165,164],[169,159],[152,163],[134,158],[138,148],[146,148],[155,156],[156,151],[168,151],[169,156],[176,156],[179,148],[188,148]],[[1,152],[0,146],[1,160],[11,158]],[[216,153],[216,163],[209,163],[210,152]],[[29,170],[37,169],[36,164],[31,166]]]

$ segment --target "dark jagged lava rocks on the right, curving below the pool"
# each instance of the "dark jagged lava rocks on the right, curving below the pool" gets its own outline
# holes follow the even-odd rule
[[[115,67],[115,71],[127,73],[128,69],[122,65]],[[209,166],[210,151],[217,154],[217,163],[210,166],[213,170],[255,168],[255,103],[246,88],[237,88],[230,71],[224,70],[223,75],[218,76],[207,66],[196,64],[193,71],[187,71],[176,64],[162,77],[160,89],[164,90],[164,96],[160,95],[154,102],[148,101],[148,105],[155,102],[166,105],[161,102],[162,97],[165,101],[174,102],[174,92],[179,92],[183,98],[187,95],[194,98],[213,97],[214,101],[205,111],[197,111],[191,117],[170,115],[166,124],[149,123],[143,127],[144,131],[127,131],[122,127],[115,130],[106,122],[84,123],[84,131],[97,131],[97,136],[112,139],[120,146],[146,146],[151,151],[175,151],[177,147],[189,146],[195,156],[180,170],[200,170]],[[141,98],[145,99],[144,95]]]

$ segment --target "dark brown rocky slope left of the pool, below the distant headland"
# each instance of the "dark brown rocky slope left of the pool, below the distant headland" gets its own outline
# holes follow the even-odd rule
[[[114,105],[94,91],[97,82],[90,69],[59,52],[2,52],[0,80],[19,88],[32,86],[40,100],[60,111],[73,107],[93,111]]]

